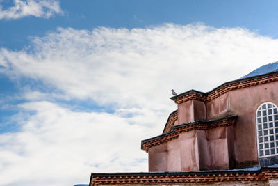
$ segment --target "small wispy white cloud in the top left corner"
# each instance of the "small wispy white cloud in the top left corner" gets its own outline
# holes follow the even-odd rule
[[[3,10],[0,5],[0,20],[19,19],[26,16],[49,18],[54,13],[63,14],[60,3],[56,0],[14,0],[14,6]]]

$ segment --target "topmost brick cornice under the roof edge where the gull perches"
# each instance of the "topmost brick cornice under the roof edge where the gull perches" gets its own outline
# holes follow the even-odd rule
[[[247,77],[245,79],[236,79],[231,82],[226,82],[207,93],[190,90],[185,93],[175,95],[170,99],[177,104],[186,102],[188,100],[199,100],[202,102],[209,102],[211,100],[214,100],[215,98],[218,98],[220,95],[227,93],[228,91],[234,91],[236,89],[247,88],[259,84],[267,84],[270,82],[275,82],[277,80],[278,80],[278,72],[271,72],[265,75],[257,75],[254,77]]]

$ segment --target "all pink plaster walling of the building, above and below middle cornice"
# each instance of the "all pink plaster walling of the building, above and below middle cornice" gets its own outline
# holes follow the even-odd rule
[[[211,102],[178,104],[174,125],[238,114],[235,125],[183,132],[179,139],[149,148],[149,171],[195,171],[240,168],[258,164],[256,109],[263,102],[278,105],[278,82],[229,91]]]

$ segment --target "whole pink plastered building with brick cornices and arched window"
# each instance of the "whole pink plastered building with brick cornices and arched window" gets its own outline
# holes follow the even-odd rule
[[[170,99],[163,134],[142,141],[149,173],[92,173],[90,186],[278,185],[278,62]]]

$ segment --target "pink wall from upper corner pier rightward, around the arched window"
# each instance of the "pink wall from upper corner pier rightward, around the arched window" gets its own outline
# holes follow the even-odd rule
[[[235,162],[234,166],[241,167],[258,164],[256,109],[263,102],[277,104],[277,92],[277,82],[260,84],[229,91],[206,104],[208,119],[238,114],[238,121],[234,125],[233,143],[230,143],[231,150],[234,148],[232,150],[234,151],[232,153]]]

